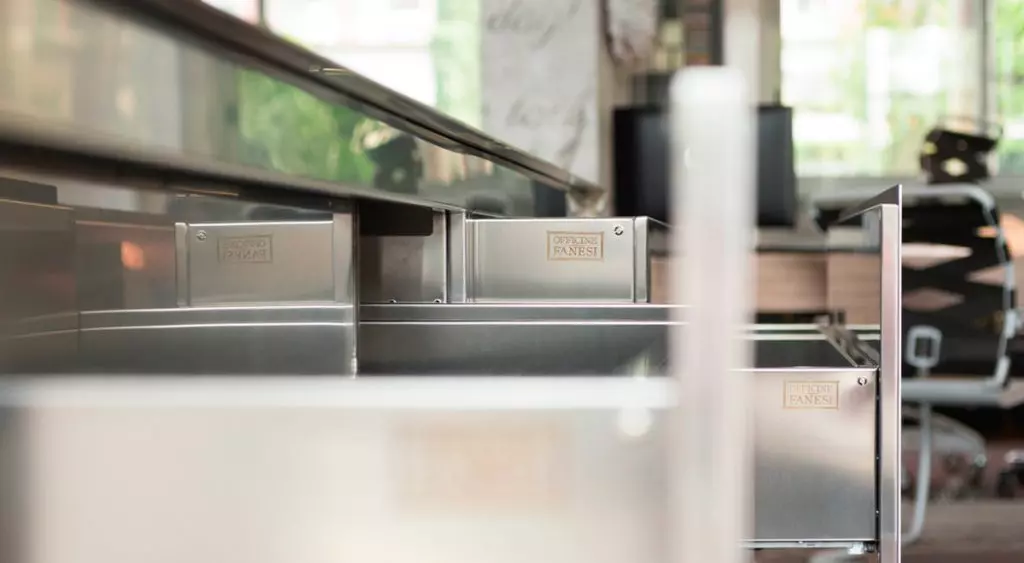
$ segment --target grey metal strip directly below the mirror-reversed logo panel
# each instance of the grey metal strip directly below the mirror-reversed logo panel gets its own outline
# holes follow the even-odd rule
[[[87,373],[348,375],[351,305],[82,313]]]

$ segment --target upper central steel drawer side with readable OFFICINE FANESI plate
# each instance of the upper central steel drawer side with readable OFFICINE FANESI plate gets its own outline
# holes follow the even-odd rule
[[[632,302],[634,221],[471,220],[471,301]]]

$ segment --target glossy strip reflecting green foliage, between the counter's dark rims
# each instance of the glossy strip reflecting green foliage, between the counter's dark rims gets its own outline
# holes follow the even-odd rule
[[[0,85],[10,116],[161,154],[534,213],[526,176],[416,138],[340,95],[318,97],[92,5],[30,4],[0,20],[0,35],[32,39],[0,43],[0,66],[18,77]],[[62,15],[37,17],[43,8]]]

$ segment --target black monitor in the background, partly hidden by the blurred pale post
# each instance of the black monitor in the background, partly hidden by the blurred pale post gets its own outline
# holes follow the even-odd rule
[[[615,214],[669,220],[669,115],[660,107],[617,110],[614,116]],[[713,187],[709,186],[710,189]],[[793,110],[761,105],[757,117],[759,226],[797,219]]]

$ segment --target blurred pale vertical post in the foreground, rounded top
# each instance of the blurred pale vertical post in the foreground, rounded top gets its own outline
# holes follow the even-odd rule
[[[743,73],[730,68],[683,71],[671,97],[673,289],[674,302],[687,305],[678,313],[687,326],[674,328],[671,340],[679,401],[669,537],[677,562],[740,563],[753,527],[743,324],[754,243],[754,106]]]

